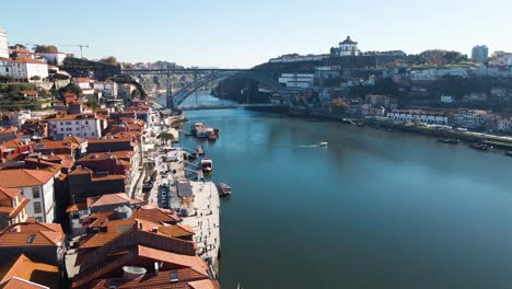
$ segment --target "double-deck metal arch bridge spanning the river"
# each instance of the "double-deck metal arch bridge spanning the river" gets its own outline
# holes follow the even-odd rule
[[[278,93],[284,101],[289,101],[291,90],[282,86],[275,80],[276,73],[282,71],[266,70],[266,69],[222,69],[222,68],[171,68],[171,69],[133,69],[133,70],[121,70],[123,74],[131,77],[142,76],[166,76],[166,101],[167,108],[181,108],[181,109],[218,109],[218,108],[233,108],[233,107],[269,107],[269,106],[283,106],[282,104],[237,104],[237,105],[195,105],[195,106],[181,106],[182,103],[197,90],[200,90],[205,85],[222,80],[225,78],[245,78],[255,80],[263,86]],[[193,81],[179,90],[173,92],[172,81],[173,77],[189,76]]]

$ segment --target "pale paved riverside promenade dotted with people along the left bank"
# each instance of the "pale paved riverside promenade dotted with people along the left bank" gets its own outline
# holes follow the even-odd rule
[[[197,165],[185,160],[183,148],[173,147],[171,141],[158,138],[161,132],[172,129],[171,125],[175,120],[177,118],[173,116],[151,125],[150,129],[153,132],[146,138],[142,146],[147,151],[144,161],[154,163],[156,174],[153,174],[155,178],[152,188],[148,193],[139,190],[138,197],[146,199],[149,204],[177,211],[183,220],[182,223],[194,229],[198,255],[205,258],[218,274],[218,256],[221,246],[219,193],[214,183],[196,181],[197,175],[201,173]],[[182,196],[178,192],[178,183],[189,184],[193,196]],[[163,193],[163,187],[168,190]]]

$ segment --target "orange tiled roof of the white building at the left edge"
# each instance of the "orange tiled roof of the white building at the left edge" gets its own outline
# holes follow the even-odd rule
[[[0,180],[4,187],[42,186],[48,183],[55,173],[43,170],[2,170]]]

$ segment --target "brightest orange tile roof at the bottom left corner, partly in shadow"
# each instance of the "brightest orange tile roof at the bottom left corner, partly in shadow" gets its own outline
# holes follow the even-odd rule
[[[5,268],[3,269],[3,267]],[[2,268],[0,268],[0,271],[4,273],[3,276],[0,276],[0,282],[7,281],[12,277],[19,277],[40,284],[40,280],[34,280],[34,277],[36,277],[34,273],[36,271],[39,276],[44,273],[45,277],[54,277],[54,280],[59,279],[59,268],[57,266],[35,263],[24,254],[18,256],[13,262],[4,264]]]

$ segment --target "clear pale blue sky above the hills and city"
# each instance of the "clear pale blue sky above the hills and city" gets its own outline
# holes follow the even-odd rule
[[[512,51],[511,0],[24,0],[0,10],[11,44],[89,44],[88,58],[130,62],[245,68],[327,53],[347,35],[362,50]]]

